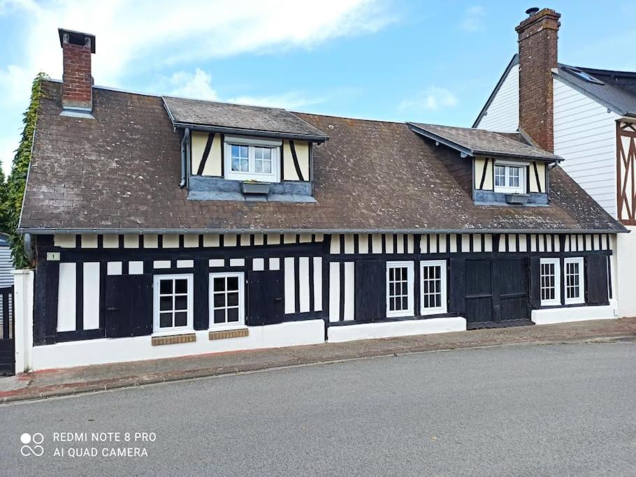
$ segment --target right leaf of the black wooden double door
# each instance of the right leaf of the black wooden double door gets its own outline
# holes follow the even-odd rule
[[[529,320],[528,260],[512,258],[496,260],[495,264],[498,281],[498,293],[494,297],[496,323]]]

